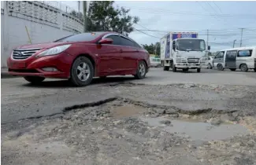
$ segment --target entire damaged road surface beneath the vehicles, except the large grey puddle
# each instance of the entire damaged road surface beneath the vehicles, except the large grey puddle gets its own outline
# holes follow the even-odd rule
[[[22,78],[1,81],[5,164],[256,163],[255,72],[151,68],[147,79],[94,79],[80,88],[58,79],[39,86]],[[143,122],[161,116],[169,120],[154,126]],[[216,129],[236,123],[250,131],[195,145],[189,136],[163,128],[176,128],[176,120],[184,119]]]

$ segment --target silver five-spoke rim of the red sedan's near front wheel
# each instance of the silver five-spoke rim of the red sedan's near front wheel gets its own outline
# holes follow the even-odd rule
[[[85,62],[81,62],[76,68],[76,75],[81,81],[87,81],[91,75],[89,65]]]

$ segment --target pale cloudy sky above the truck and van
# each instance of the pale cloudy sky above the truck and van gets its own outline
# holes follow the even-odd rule
[[[78,9],[78,2],[62,2]],[[140,44],[159,42],[168,31],[198,31],[213,51],[230,48],[236,39],[239,46],[241,29],[243,46],[256,45],[256,2],[127,2],[117,1],[116,6],[131,9],[130,15],[139,16],[139,24],[129,36]],[[155,30],[155,31],[148,31]],[[149,36],[153,35],[153,36]]]

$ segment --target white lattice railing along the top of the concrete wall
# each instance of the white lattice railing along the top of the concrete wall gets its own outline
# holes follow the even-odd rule
[[[43,2],[10,1],[7,3],[10,16],[17,16],[42,22],[67,31],[83,32],[83,22],[61,9],[46,5]]]

